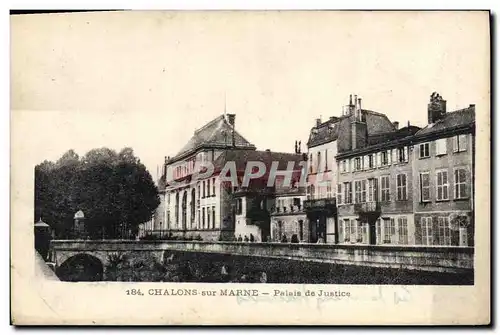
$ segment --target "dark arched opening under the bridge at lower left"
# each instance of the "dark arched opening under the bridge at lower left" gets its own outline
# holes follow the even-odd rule
[[[104,265],[95,256],[79,253],[68,257],[56,269],[56,274],[62,281],[102,281]]]

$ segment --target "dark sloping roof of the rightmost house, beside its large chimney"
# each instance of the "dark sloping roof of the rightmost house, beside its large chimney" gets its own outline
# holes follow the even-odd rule
[[[471,105],[467,108],[459,109],[453,112],[446,113],[444,118],[436,123],[429,124],[419,130],[416,137],[426,137],[432,134],[437,134],[457,128],[473,126],[476,121],[476,108]]]

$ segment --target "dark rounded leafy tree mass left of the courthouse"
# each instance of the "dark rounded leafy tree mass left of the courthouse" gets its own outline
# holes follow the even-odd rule
[[[159,203],[151,175],[131,148],[92,149],[81,158],[69,150],[56,163],[35,167],[35,219],[43,217],[58,238],[69,237],[78,210],[91,238],[136,234]]]

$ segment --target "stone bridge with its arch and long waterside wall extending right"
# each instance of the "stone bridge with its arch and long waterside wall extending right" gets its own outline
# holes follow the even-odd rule
[[[165,264],[174,255],[190,255],[189,261],[207,255],[223,255],[226,259],[258,259],[258,264],[273,260],[300,264],[322,263],[341,266],[397,269],[448,274],[472,274],[474,249],[470,247],[368,246],[291,243],[242,243],[206,241],[129,241],[129,240],[54,240],[51,261],[61,275],[76,268],[92,269],[93,280],[108,280],[106,269],[123,267],[121,262],[137,270]],[[212,257],[209,256],[209,257]],[[229,256],[229,257],[228,257]],[[217,257],[217,256],[216,256]],[[201,258],[200,258],[201,259]],[[206,258],[211,263],[212,258]],[[184,261],[182,261],[184,262]],[[203,267],[201,260],[197,266]],[[246,261],[245,261],[246,262]],[[305,262],[305,263],[304,263]],[[234,262],[233,262],[234,263]],[[215,263],[214,263],[215,264]],[[298,265],[301,267],[302,265]],[[239,266],[239,265],[236,265]],[[245,267],[253,266],[245,264]],[[273,265],[275,266],[275,265]],[[83,271],[83,270],[82,270]],[[64,274],[63,274],[64,276]]]

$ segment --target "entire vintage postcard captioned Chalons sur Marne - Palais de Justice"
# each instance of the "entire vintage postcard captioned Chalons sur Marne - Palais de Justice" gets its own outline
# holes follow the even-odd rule
[[[490,13],[11,15],[15,325],[487,325]]]

